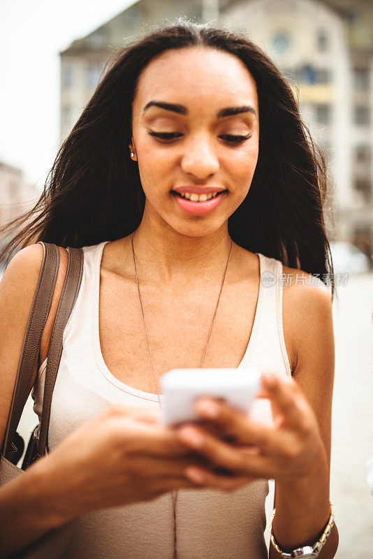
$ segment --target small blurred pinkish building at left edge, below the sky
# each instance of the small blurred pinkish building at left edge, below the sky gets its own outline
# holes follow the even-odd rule
[[[22,170],[0,162],[0,227],[31,208],[39,196],[24,180]]]

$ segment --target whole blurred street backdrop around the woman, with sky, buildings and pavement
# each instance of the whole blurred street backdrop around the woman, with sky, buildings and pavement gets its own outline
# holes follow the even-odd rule
[[[328,237],[335,273],[348,274],[333,305],[337,558],[372,559],[373,495],[365,481],[373,457],[372,0],[2,0],[0,226],[40,196],[112,52],[179,16],[244,31],[263,48],[326,153]],[[35,424],[29,400],[20,431],[27,437]]]

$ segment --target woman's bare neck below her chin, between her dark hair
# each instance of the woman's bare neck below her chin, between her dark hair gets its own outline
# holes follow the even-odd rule
[[[144,212],[133,237],[133,249],[136,266],[142,270],[142,281],[149,279],[162,286],[191,285],[201,280],[211,284],[215,279],[221,281],[231,250],[231,238],[227,223],[214,233],[189,236],[165,226],[164,222],[155,222]]]

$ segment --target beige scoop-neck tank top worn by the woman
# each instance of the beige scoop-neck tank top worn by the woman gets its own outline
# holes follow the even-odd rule
[[[120,382],[103,361],[98,336],[98,294],[105,242],[83,247],[82,283],[64,331],[64,349],[52,398],[50,450],[111,404],[159,408],[157,395]],[[268,368],[282,376],[291,375],[282,326],[282,264],[263,254],[258,256],[261,270],[258,303],[239,368]],[[34,411],[39,418],[46,361],[32,391]],[[269,402],[256,400],[251,416],[256,421],[271,423]],[[263,480],[231,493],[179,491],[178,559],[267,558],[263,535],[267,494],[268,481]],[[78,519],[64,559],[173,559],[173,530],[171,493],[150,502],[95,511]]]

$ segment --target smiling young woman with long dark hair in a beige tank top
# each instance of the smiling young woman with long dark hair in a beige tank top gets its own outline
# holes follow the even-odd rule
[[[324,187],[291,89],[244,36],[181,21],[115,55],[1,282],[3,434],[43,258],[30,243],[55,242],[61,256],[38,413],[63,247],[84,247],[50,453],[0,492],[8,551],[76,518],[66,558],[264,558],[273,478],[270,558],[307,556],[328,523],[308,556],[335,556],[332,310],[314,284],[332,269]],[[201,356],[207,368],[261,368],[251,418],[205,398],[198,424],[162,428],[159,377]]]

